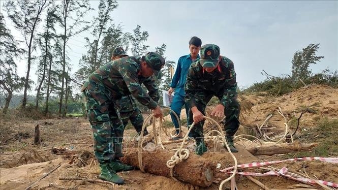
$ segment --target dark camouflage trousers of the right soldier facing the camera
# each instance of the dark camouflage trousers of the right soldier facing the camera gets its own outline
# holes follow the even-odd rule
[[[207,92],[199,92],[198,97],[196,97],[196,107],[200,112],[205,115],[205,108],[208,102],[211,100],[213,94]],[[224,114],[226,116],[225,123],[224,123],[224,130],[227,136],[234,136],[239,128],[239,112],[240,106],[236,98],[233,99],[231,104],[224,108]],[[193,113],[190,109],[189,111],[189,120],[193,123]],[[191,130],[190,135],[196,140],[196,143],[199,144],[203,138],[203,125],[204,121],[196,123],[194,125],[194,129]]]

